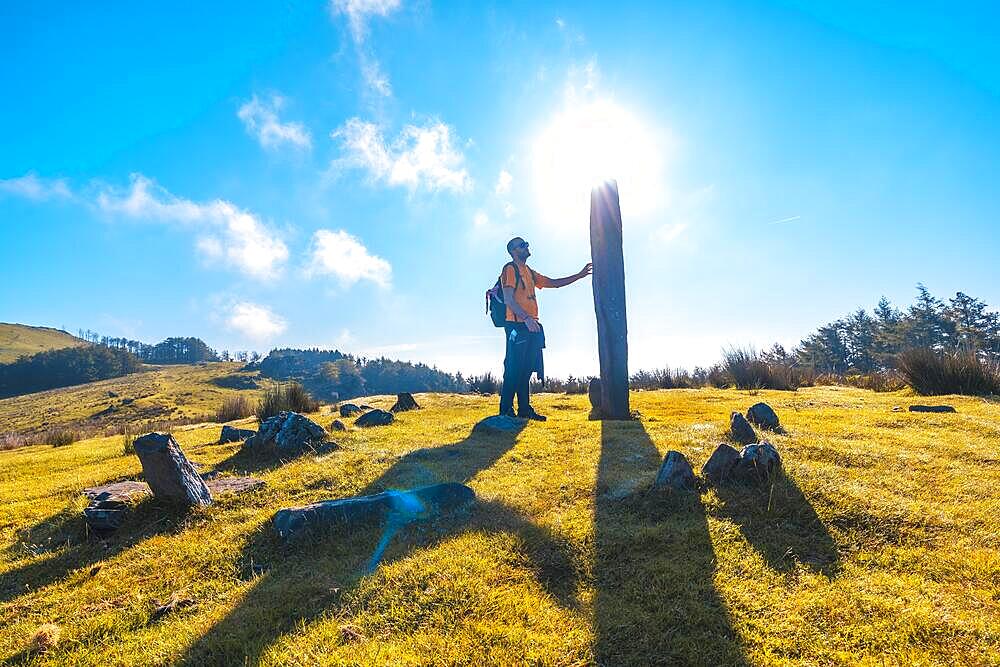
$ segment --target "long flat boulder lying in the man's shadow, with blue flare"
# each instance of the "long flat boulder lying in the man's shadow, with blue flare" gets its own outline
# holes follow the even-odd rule
[[[279,537],[288,539],[309,527],[354,527],[387,519],[399,525],[434,518],[475,499],[475,491],[455,482],[409,491],[384,491],[278,510],[274,529]]]

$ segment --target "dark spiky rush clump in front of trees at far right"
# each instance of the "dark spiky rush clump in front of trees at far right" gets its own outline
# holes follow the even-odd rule
[[[918,394],[1000,394],[1000,365],[975,352],[942,353],[920,347],[900,352],[896,365]]]

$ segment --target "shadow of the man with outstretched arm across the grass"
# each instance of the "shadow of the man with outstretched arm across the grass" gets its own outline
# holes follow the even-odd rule
[[[469,437],[441,447],[418,449],[393,464],[357,495],[438,482],[467,482],[496,463],[516,434]],[[578,563],[551,531],[509,507],[477,502],[458,514],[413,524],[393,539],[382,564],[469,531],[513,532],[522,539],[538,580],[556,599],[572,604]],[[351,604],[382,526],[313,530],[290,544],[274,535],[271,522],[249,536],[240,569],[253,587],[224,619],[185,653],[188,664],[256,664],[280,638],[323,614]]]

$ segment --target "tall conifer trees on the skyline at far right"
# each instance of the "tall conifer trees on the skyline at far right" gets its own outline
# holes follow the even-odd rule
[[[917,298],[905,310],[883,297],[871,313],[859,308],[820,327],[791,354],[775,346],[768,355],[818,373],[845,375],[892,370],[898,355],[910,349],[973,353],[1000,362],[1000,314],[962,292],[942,301],[917,285]]]

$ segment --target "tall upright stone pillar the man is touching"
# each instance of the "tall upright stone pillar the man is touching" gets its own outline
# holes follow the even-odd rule
[[[594,312],[601,363],[601,415],[631,419],[628,404],[628,341],[625,319],[625,257],[618,184],[590,191],[590,255],[594,264]]]

